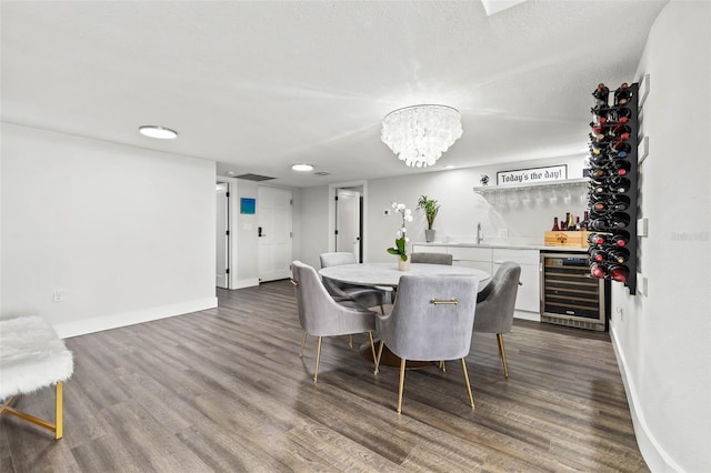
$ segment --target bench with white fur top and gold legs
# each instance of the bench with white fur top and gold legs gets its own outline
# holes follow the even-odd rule
[[[61,439],[62,382],[74,371],[72,354],[40,316],[0,320],[0,415],[11,414],[54,432]],[[21,394],[54,385],[54,423],[11,405]]]

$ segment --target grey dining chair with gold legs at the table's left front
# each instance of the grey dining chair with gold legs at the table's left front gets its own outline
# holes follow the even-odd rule
[[[292,278],[297,293],[299,322],[303,329],[299,356],[303,356],[307,334],[318,336],[313,382],[319,378],[319,360],[321,358],[321,339],[323,336],[352,335],[368,332],[370,350],[375,359],[372,331],[375,328],[377,312],[360,306],[353,301],[337,302],[326,290],[316,270],[302,263],[291,263]]]

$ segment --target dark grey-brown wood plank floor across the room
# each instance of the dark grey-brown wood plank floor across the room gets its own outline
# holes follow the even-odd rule
[[[219,293],[214,310],[67,340],[64,437],[4,415],[0,472],[641,472],[607,333],[515,321],[474,334],[461,366],[378,376],[348,338],[301,329],[288,281]],[[364,334],[354,336],[364,343]],[[51,419],[53,390],[18,400]]]

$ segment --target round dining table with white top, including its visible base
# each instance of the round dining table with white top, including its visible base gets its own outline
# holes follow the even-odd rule
[[[392,289],[393,291],[397,291],[400,278],[403,275],[421,274],[440,275],[442,278],[452,275],[471,275],[479,278],[479,291],[481,291],[491,280],[490,273],[474,268],[429,263],[410,263],[407,271],[400,270],[398,268],[398,263],[339,264],[322,268],[319,270],[319,274],[321,278],[330,279],[340,283]],[[360,354],[364,359],[373,361],[369,343],[365,343],[360,348]],[[428,364],[430,364],[430,362],[408,360],[407,368],[418,369],[427,366]],[[400,366],[400,358],[392,353],[387,346],[383,346],[380,365]]]

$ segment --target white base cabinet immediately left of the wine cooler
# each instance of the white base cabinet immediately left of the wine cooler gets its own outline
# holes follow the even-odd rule
[[[540,260],[538,250],[493,249],[493,271],[501,263],[513,261],[521,265],[521,285],[515,298],[517,316],[520,319],[540,320]],[[523,311],[524,313],[521,313]]]

